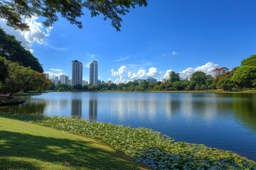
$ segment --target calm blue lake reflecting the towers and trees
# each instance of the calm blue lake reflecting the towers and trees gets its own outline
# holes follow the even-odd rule
[[[54,92],[3,110],[151,128],[256,161],[256,94]]]

